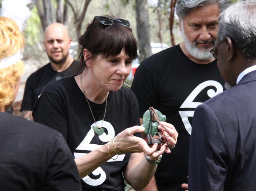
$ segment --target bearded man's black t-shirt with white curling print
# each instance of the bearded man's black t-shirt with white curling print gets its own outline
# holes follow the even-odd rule
[[[156,171],[160,191],[182,191],[187,183],[191,124],[195,108],[223,91],[217,61],[197,64],[179,45],[165,49],[143,61],[135,72],[132,91],[137,96],[139,116],[150,107],[166,115],[178,131],[171,154],[164,154]]]

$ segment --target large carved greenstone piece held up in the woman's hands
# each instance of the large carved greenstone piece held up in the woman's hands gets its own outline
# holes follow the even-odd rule
[[[160,111],[158,111],[157,109],[155,109],[156,111],[156,114],[158,116],[158,119],[160,121],[166,121],[166,116],[161,114]],[[152,122],[152,119],[151,119],[151,114],[150,114],[150,111],[149,109],[144,113],[143,115],[143,124],[142,126],[145,127],[145,133],[146,134],[150,134],[151,136],[154,136],[156,135],[156,133],[159,131],[158,130],[158,122],[155,120],[155,122]]]

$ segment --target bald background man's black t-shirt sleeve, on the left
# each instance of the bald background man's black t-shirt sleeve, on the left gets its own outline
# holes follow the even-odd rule
[[[33,106],[35,104],[35,100],[33,97],[34,82],[35,80],[33,79],[33,76],[28,77],[25,85],[25,90],[24,90],[20,111],[32,111],[33,109]]]

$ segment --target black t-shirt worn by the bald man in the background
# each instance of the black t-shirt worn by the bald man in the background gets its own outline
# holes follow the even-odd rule
[[[32,111],[35,101],[42,93],[44,87],[55,80],[63,78],[63,76],[65,77],[68,71],[73,71],[78,65],[79,62],[74,60],[65,71],[58,73],[52,68],[49,62],[32,73],[26,81],[20,111]]]

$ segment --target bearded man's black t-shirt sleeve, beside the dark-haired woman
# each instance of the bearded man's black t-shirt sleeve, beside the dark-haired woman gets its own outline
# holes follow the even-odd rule
[[[149,73],[144,65],[140,65],[134,76],[131,90],[137,97],[139,102],[139,117],[143,117],[145,111],[149,107],[158,107],[158,96],[156,93],[156,85],[154,84],[154,77]]]

